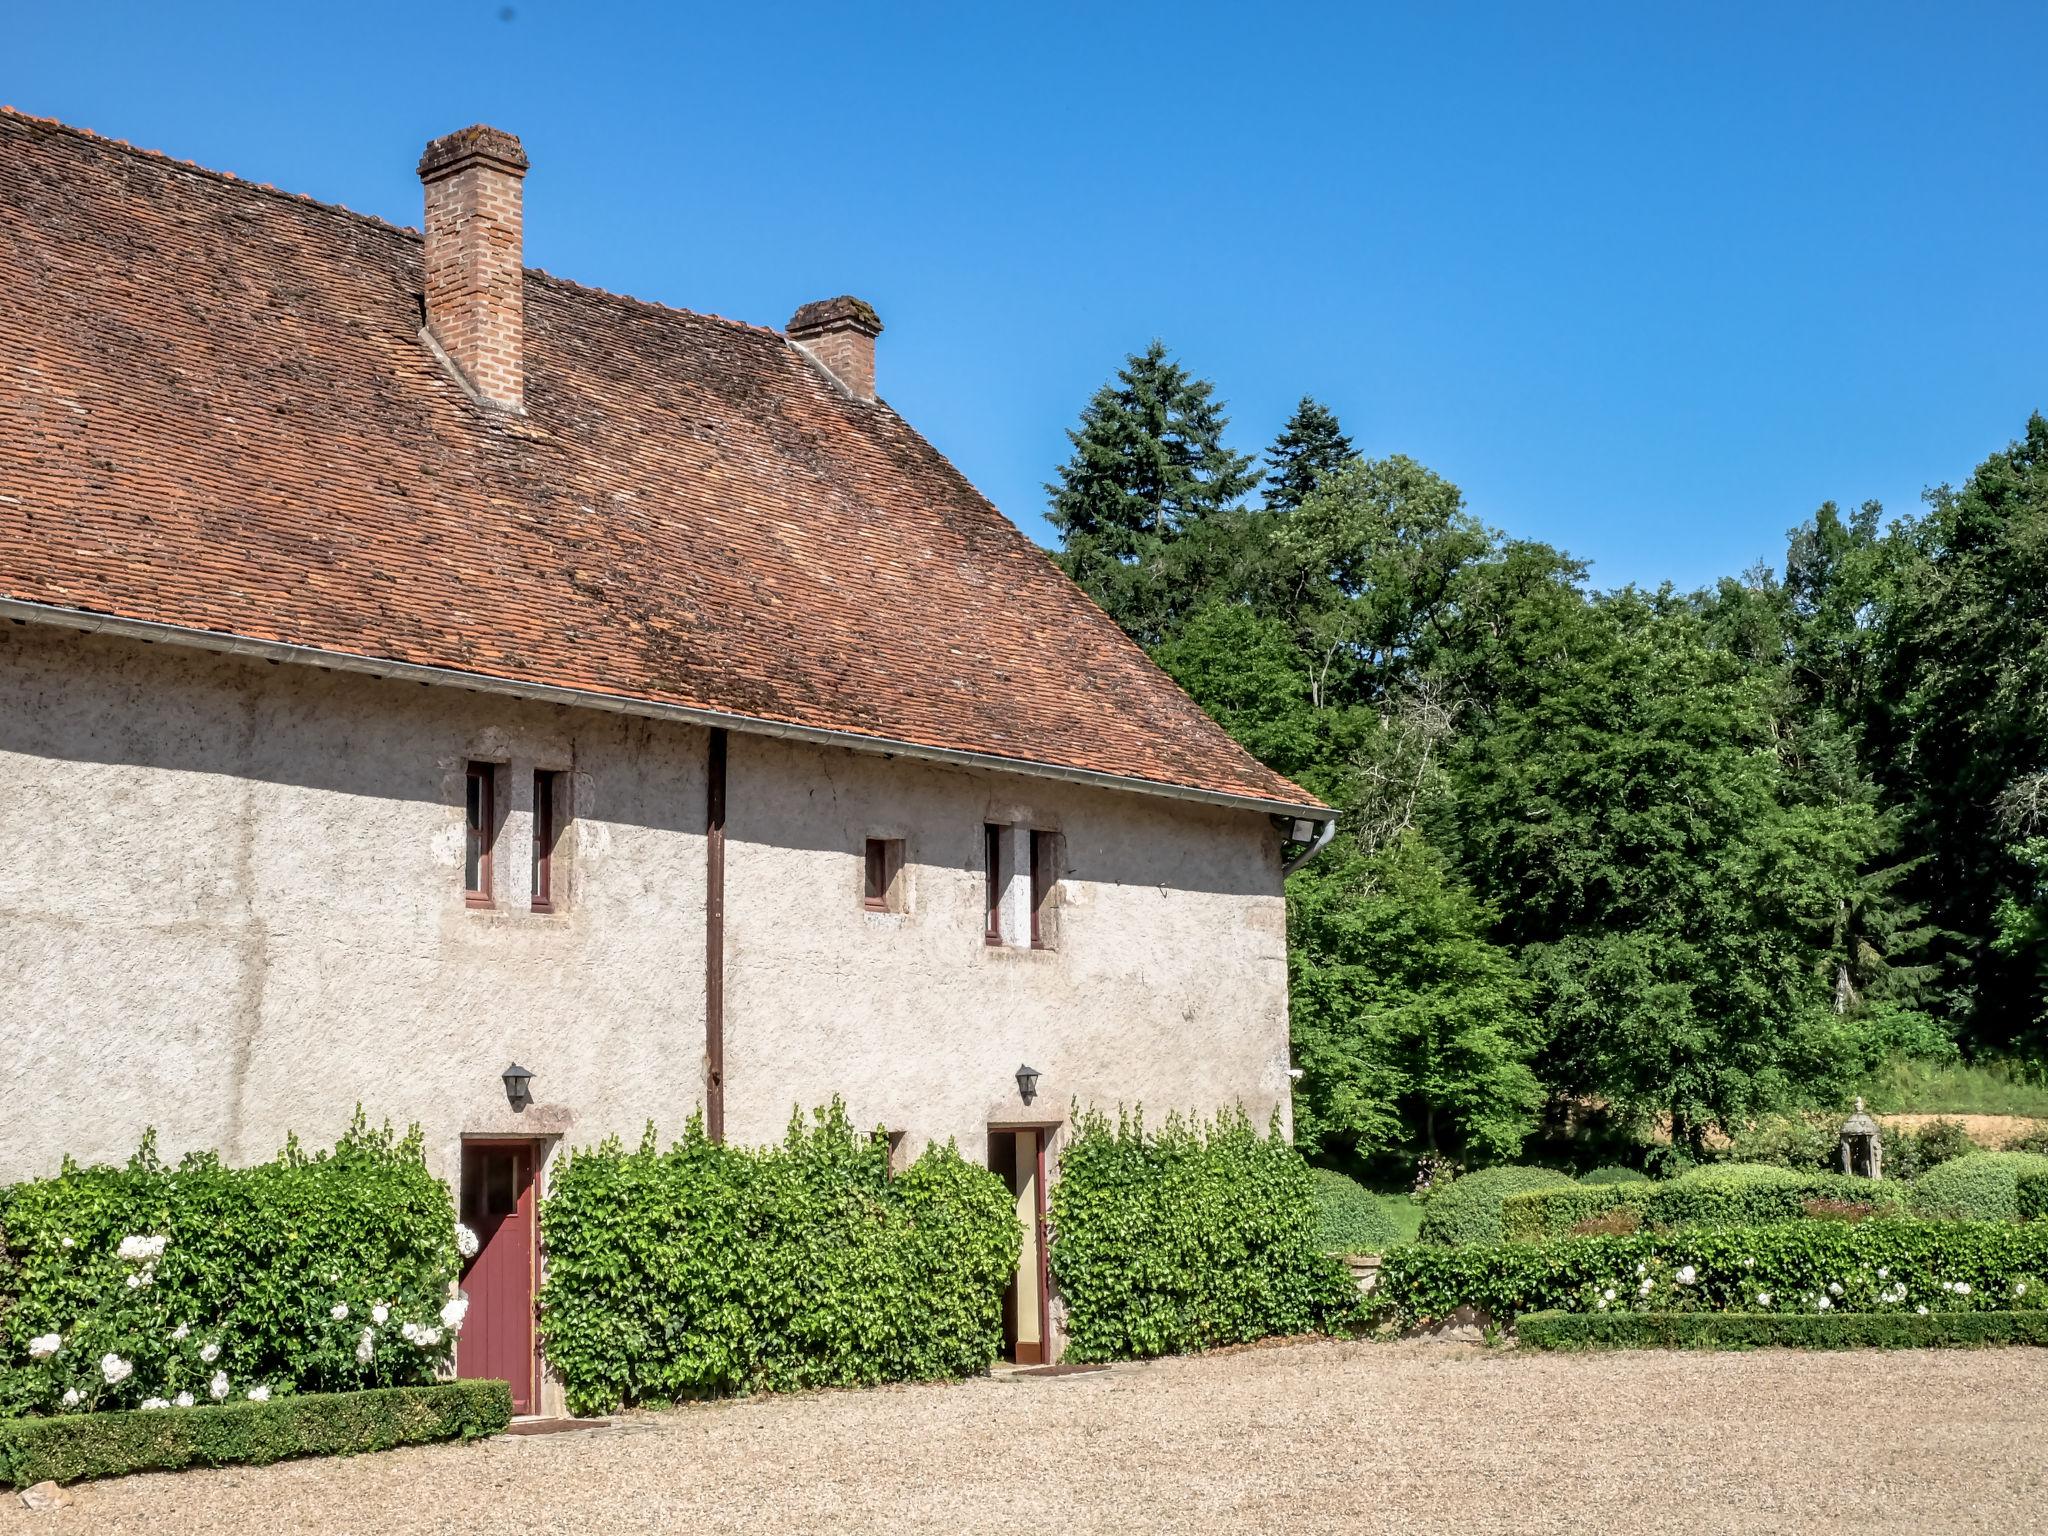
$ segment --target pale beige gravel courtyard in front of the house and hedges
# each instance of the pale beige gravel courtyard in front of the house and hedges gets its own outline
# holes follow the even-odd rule
[[[135,1477],[0,1530],[2011,1532],[2048,1513],[2044,1427],[2048,1350],[1286,1343]]]

